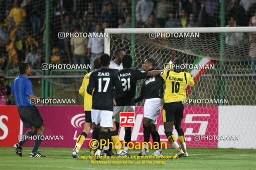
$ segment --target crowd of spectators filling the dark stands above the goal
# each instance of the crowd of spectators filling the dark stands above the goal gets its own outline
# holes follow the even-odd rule
[[[136,27],[220,26],[221,0],[137,0]],[[226,0],[227,26],[256,26],[256,0]],[[91,63],[104,52],[103,38],[58,38],[58,32],[102,32],[132,27],[132,0],[50,0],[50,62]],[[226,35],[226,44],[236,45]],[[240,34],[232,35],[237,41]],[[251,37],[250,56],[256,58]],[[27,61],[34,69],[44,62],[45,0],[0,0],[0,67]],[[255,63],[256,64],[256,63]]]

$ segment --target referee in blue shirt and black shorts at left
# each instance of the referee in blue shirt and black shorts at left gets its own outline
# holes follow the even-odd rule
[[[15,97],[16,104],[18,106],[18,112],[20,118],[25,127],[30,127],[31,130],[27,131],[23,137],[23,140],[14,145],[15,151],[19,156],[22,156],[22,145],[32,136],[36,135],[35,145],[30,153],[30,157],[45,157],[38,152],[38,148],[44,138],[45,126],[43,119],[34,104],[30,103],[30,99],[40,99],[34,95],[32,90],[31,81],[28,76],[31,73],[31,67],[29,63],[22,62],[19,66],[20,75],[14,79],[12,84],[11,93]],[[35,137],[33,137],[35,138]]]

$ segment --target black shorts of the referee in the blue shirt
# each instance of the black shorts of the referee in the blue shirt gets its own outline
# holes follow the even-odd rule
[[[39,127],[43,124],[43,119],[35,105],[18,107],[18,112],[25,127]]]

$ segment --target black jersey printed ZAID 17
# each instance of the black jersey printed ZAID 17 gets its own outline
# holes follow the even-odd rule
[[[121,81],[116,71],[109,68],[101,68],[93,71],[90,75],[87,92],[92,93],[92,108],[98,110],[113,111],[113,90],[117,92],[119,97],[123,94]]]

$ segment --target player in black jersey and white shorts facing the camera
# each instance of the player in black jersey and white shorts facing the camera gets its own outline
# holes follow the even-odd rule
[[[152,58],[146,59],[143,64],[143,69],[145,71],[152,71],[155,68],[155,60]],[[144,118],[143,118],[143,134],[144,134],[144,142],[149,142],[150,134],[152,139],[158,143],[160,146],[160,135],[156,128],[157,117],[160,114],[163,97],[163,81],[164,79],[160,75],[156,75],[153,77],[148,77],[144,80],[141,96],[135,100],[135,102],[139,102],[145,98],[144,104]],[[146,155],[149,153],[148,145],[145,144],[142,151],[139,155]],[[163,156],[162,149],[158,148],[153,155]]]

